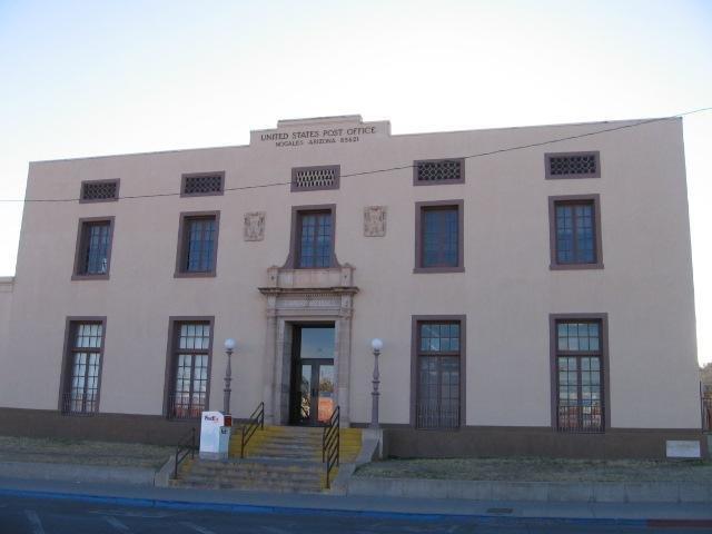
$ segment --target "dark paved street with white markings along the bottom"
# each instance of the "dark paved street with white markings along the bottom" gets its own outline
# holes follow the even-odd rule
[[[506,513],[506,511],[503,511]],[[709,525],[709,523],[708,523]],[[702,524],[683,530],[625,524],[563,523],[514,517],[427,517],[295,510],[216,512],[141,507],[73,500],[0,497],[2,534],[222,534],[222,533],[639,533],[712,532]]]

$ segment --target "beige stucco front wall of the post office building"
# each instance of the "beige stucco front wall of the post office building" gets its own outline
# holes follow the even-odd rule
[[[234,337],[233,413],[246,417],[264,400],[279,422],[285,328],[326,317],[338,333],[345,421],[369,421],[369,343],[380,337],[380,421],[412,428],[412,317],[457,315],[466,316],[462,425],[551,428],[550,316],[606,314],[607,431],[699,429],[682,121],[635,122],[393,136],[388,122],[346,117],[284,121],[254,131],[249,146],[32,162],[28,199],[72,199],[82,180],[116,178],[121,198],[26,205],[17,276],[0,284],[0,406],[57,411],[67,318],[106,317],[100,412],[160,416],[169,318],[210,316],[209,405],[221,406],[221,345]],[[334,142],[314,145],[278,146],[270,136],[335,129],[342,135],[322,136]],[[601,130],[612,131],[589,135]],[[523,146],[467,158],[464,184],[414,186],[416,160]],[[545,179],[544,155],[568,151],[599,151],[601,177]],[[293,168],[324,165],[340,166],[338,189],[291,191]],[[390,168],[399,169],[372,172]],[[182,175],[205,171],[225,172],[224,195],[141,198],[178,194]],[[281,185],[245,188],[271,184]],[[600,196],[603,268],[550,268],[548,197],[568,195]],[[416,202],[434,200],[463,202],[462,273],[414,273]],[[317,205],[336,206],[335,254],[353,268],[348,284],[329,279],[343,269],[269,270],[289,256],[293,207]],[[372,206],[386,208],[383,236],[365,235]],[[175,277],[180,214],[215,210],[216,276]],[[254,212],[264,214],[260,240],[245,238]],[[109,279],[72,280],[79,219],[107,216]],[[304,279],[270,279],[293,275]],[[290,284],[312,293],[283,306],[289,291],[260,291]],[[339,286],[356,290],[315,300]]]

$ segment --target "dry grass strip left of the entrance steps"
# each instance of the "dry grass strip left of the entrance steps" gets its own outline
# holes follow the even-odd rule
[[[159,468],[175,447],[0,436],[0,462],[110,465]]]

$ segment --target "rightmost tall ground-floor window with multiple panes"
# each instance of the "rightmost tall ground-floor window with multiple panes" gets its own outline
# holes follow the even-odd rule
[[[601,319],[555,319],[556,428],[603,432],[604,358]]]

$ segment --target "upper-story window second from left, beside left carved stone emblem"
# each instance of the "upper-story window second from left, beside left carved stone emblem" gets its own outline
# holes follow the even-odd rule
[[[215,276],[219,211],[180,215],[176,276]]]

